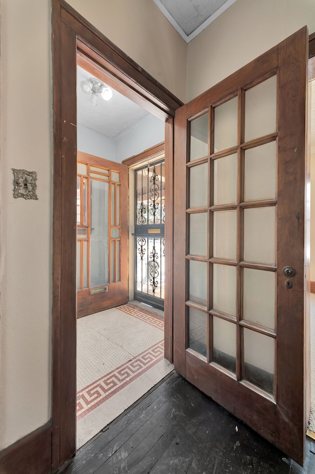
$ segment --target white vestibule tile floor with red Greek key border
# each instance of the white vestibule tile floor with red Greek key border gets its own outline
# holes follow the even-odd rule
[[[164,320],[147,305],[123,305],[77,321],[77,448],[158,383]]]

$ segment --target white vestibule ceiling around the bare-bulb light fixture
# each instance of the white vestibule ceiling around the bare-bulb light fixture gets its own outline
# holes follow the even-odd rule
[[[91,76],[85,69],[77,68],[77,121],[96,132],[115,138],[139,122],[148,112],[113,89],[110,101],[97,98],[97,105],[89,102],[80,82]]]

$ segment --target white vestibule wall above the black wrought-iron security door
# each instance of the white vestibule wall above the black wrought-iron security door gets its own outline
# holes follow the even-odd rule
[[[137,124],[115,137],[116,160],[121,163],[164,141],[164,127],[164,122],[154,115],[143,117]]]

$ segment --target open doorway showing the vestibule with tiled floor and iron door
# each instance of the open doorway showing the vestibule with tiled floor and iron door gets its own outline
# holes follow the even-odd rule
[[[164,360],[165,152],[150,152],[164,144],[164,122],[95,69],[78,55],[77,449],[173,370]],[[85,94],[95,81],[109,101]],[[140,163],[128,169],[130,158]]]

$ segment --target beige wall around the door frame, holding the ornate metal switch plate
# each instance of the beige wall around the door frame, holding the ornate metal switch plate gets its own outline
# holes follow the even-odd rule
[[[152,1],[70,3],[185,101],[187,46]],[[53,151],[50,0],[0,13],[1,449],[50,418]],[[13,199],[11,168],[37,172],[38,201]]]

